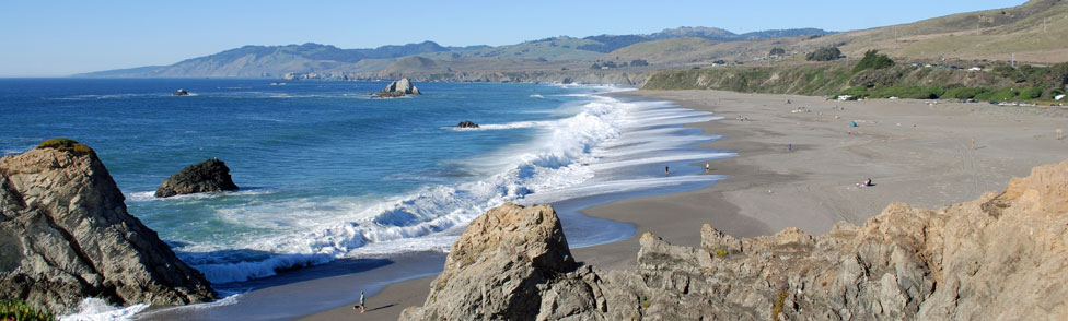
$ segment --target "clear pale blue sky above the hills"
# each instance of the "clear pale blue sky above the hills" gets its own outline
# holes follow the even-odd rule
[[[172,64],[245,45],[511,45],[555,36],[852,31],[1023,0],[21,1],[0,0],[0,76]]]

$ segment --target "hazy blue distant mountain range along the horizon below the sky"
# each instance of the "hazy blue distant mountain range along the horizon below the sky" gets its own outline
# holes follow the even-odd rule
[[[149,66],[107,70],[77,76],[263,76],[281,78],[289,73],[358,73],[391,67],[398,58],[418,56],[434,60],[465,58],[507,58],[546,62],[594,61],[603,54],[635,44],[672,38],[698,37],[713,41],[763,40],[779,37],[823,36],[816,28],[764,31],[734,34],[720,28],[680,27],[649,35],[600,35],[585,38],[554,37],[507,46],[444,47],[433,41],[374,49],[341,49],[329,45],[244,46],[219,54],[193,58],[171,66]]]

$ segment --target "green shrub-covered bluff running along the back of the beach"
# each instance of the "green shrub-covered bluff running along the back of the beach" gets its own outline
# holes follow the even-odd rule
[[[897,63],[869,50],[856,64],[817,62],[776,67],[731,66],[654,73],[647,90],[720,90],[742,93],[915,98],[1052,100],[1066,92],[1068,62],[1013,67],[997,61]],[[949,64],[953,63],[953,64]],[[957,64],[959,63],[959,64]]]

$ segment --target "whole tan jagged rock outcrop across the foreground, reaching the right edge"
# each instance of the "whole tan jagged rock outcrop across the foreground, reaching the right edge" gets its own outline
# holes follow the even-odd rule
[[[402,320],[1064,320],[1068,162],[939,210],[701,247],[641,236],[637,268],[574,262],[552,207],[504,204],[453,245]]]

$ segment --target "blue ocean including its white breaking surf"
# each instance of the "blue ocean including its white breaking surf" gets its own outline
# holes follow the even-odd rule
[[[93,147],[129,213],[230,293],[338,260],[444,252],[504,202],[569,201],[557,210],[572,247],[625,239],[631,225],[579,211],[707,187],[722,177],[688,165],[733,156],[694,147],[718,138],[683,126],[719,117],[602,95],[622,88],[416,83],[425,95],[367,95],[386,84],[3,79],[0,152],[51,138]],[[480,128],[455,128],[464,120]],[[152,195],[208,158],[241,190]]]

